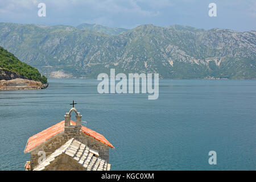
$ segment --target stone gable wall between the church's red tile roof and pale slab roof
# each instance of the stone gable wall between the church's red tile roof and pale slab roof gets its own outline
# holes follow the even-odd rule
[[[38,159],[41,157],[41,155],[38,155],[39,151],[46,152],[47,158],[47,156],[51,155],[52,152],[54,152],[57,148],[61,147],[71,138],[75,138],[79,142],[84,143],[90,148],[98,151],[99,156],[109,162],[109,147],[99,142],[98,140],[90,137],[89,135],[81,133],[80,130],[81,127],[65,127],[65,131],[63,133],[57,135],[56,137],[52,137],[51,139],[46,141],[46,143],[43,143],[41,147],[32,151],[30,160],[31,170],[38,165]]]

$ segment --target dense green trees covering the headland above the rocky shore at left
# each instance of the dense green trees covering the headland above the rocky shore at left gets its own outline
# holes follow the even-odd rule
[[[31,80],[40,81],[43,84],[47,83],[47,78],[41,76],[39,71],[26,63],[18,60],[12,53],[0,47],[0,67],[11,72],[16,72]]]

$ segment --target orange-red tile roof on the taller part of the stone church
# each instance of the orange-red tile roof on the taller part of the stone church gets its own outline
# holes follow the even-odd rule
[[[53,136],[64,131],[64,125],[65,125],[65,122],[61,121],[61,122],[57,123],[56,125],[53,125],[53,126],[49,127],[48,129],[43,130],[40,133],[35,134],[32,137],[28,138],[27,146],[26,146],[24,152],[26,153],[26,152],[31,151],[36,146],[39,146],[46,140],[48,140],[48,139],[52,138]],[[76,125],[76,122],[71,121],[71,125]],[[106,144],[109,147],[114,148],[114,146],[103,135],[101,135],[100,133],[97,133],[96,131],[93,131],[91,129],[88,129],[87,127],[82,126],[81,132],[86,135],[89,135],[90,137],[95,138],[96,140],[100,141],[101,143]]]

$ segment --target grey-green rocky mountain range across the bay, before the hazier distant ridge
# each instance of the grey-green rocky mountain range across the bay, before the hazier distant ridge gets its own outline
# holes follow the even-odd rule
[[[144,24],[119,35],[0,23],[0,46],[45,75],[159,73],[160,78],[256,78],[256,31]]]

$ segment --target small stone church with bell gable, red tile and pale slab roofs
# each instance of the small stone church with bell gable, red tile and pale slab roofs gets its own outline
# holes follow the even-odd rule
[[[74,103],[73,103],[74,104]],[[71,121],[72,111],[76,122]],[[109,171],[109,148],[100,133],[81,124],[82,115],[73,106],[65,120],[28,138],[24,153],[31,159],[27,171]]]

